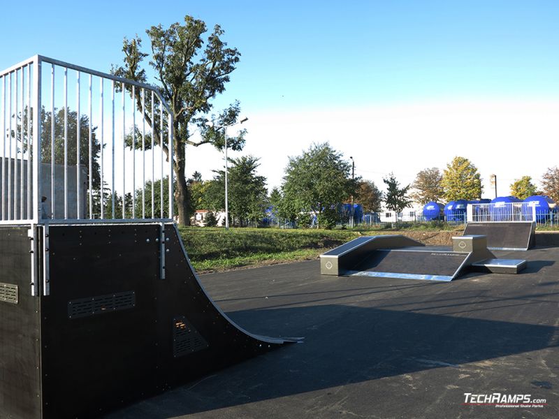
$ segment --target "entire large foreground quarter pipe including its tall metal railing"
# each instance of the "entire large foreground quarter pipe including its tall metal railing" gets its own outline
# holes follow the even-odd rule
[[[171,126],[147,84],[41,56],[0,72],[0,418],[94,418],[297,340],[205,293]]]

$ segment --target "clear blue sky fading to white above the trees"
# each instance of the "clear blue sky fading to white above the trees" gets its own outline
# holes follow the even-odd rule
[[[524,137],[512,140],[523,147],[536,140],[542,141],[539,149],[556,144],[557,1],[159,1],[157,7],[143,1],[31,1],[25,10],[22,4],[2,6],[8,19],[0,27],[0,68],[38,53],[108,71],[122,57],[124,36],[139,34],[147,49],[145,29],[153,24],[168,26],[186,14],[208,27],[220,24],[225,40],[242,57],[217,105],[240,100],[250,116],[247,152],[262,157],[261,172],[270,186],[281,182],[287,156],[324,140],[340,145],[346,156],[360,156],[356,165],[361,175],[377,183],[389,171],[410,182],[421,168],[444,168],[458,154],[477,163],[487,181],[493,171],[502,172],[505,182],[525,174],[537,180],[546,167],[559,164],[541,153],[539,163],[529,163],[519,145],[518,152],[499,159],[513,170],[501,168],[496,156],[483,152],[488,141],[507,144],[523,130]],[[480,108],[483,112],[476,113]],[[487,120],[492,110],[498,116]],[[455,131],[433,135],[440,129],[433,112],[445,120],[446,112],[455,117],[458,113],[460,123],[477,124],[472,135],[481,138],[468,142],[460,135],[459,141],[446,137]],[[514,126],[530,112],[540,131],[549,127],[538,131],[537,139],[530,135],[535,119]],[[390,121],[401,128],[415,126],[418,119],[422,122],[417,126],[423,128],[412,131],[413,140],[406,138],[409,131],[402,131],[400,139],[387,134]],[[375,126],[383,124],[386,129],[372,135]],[[344,135],[347,138],[340,138]],[[419,156],[414,152],[408,161],[404,151],[400,159],[384,158],[375,168],[363,163],[374,161],[387,143],[401,141],[408,150],[418,142],[445,138],[453,145],[434,158],[428,151]],[[270,144],[273,155],[266,151]],[[210,150],[195,153],[201,154],[192,168],[210,177],[219,156]],[[507,193],[507,188],[500,191]]]

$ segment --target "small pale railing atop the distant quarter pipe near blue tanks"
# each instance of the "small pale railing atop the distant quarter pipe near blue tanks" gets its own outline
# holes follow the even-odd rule
[[[468,204],[467,221],[474,223],[536,221],[533,203]]]

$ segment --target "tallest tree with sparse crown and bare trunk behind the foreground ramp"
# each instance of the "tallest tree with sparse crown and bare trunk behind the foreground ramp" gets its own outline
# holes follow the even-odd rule
[[[173,114],[173,168],[177,179],[175,200],[182,224],[189,223],[191,210],[185,174],[185,146],[212,144],[217,149],[223,149],[224,130],[219,127],[234,124],[240,112],[239,103],[235,101],[217,115],[210,115],[213,110],[212,100],[224,92],[240,53],[236,48],[227,47],[222,40],[224,31],[219,25],[215,25],[204,41],[206,32],[207,27],[202,20],[188,15],[184,17],[184,24],[173,23],[166,29],[159,24],[146,31],[151,43],[150,66],[155,73],[154,84],[159,87]],[[141,47],[142,41],[138,36],[131,40],[124,38],[124,64],[113,66],[112,73],[138,82],[147,82],[142,61],[148,54],[142,52]],[[140,107],[140,89],[136,89],[136,103]],[[150,121],[150,106],[148,103],[144,112],[146,120],[154,126],[155,143],[162,145],[168,155],[167,135],[159,133],[157,121]],[[210,120],[214,122],[212,126],[208,126]],[[196,130],[200,136],[194,140]],[[228,147],[242,149],[245,144],[244,136],[243,130],[237,136],[228,138]]]

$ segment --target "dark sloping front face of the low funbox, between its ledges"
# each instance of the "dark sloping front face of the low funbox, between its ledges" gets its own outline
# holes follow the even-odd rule
[[[380,249],[356,266],[356,271],[454,277],[468,253]]]

